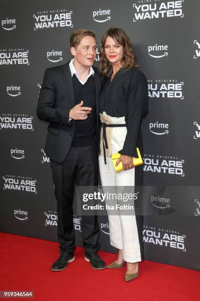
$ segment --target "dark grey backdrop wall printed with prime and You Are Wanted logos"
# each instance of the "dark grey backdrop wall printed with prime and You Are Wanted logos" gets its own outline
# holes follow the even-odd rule
[[[46,122],[36,106],[44,70],[70,60],[70,34],[120,27],[149,85],[143,121],[144,248],[148,260],[200,271],[200,1],[2,0],[0,231],[56,241]],[[98,64],[99,53],[96,58]],[[110,246],[99,216],[101,250]],[[81,216],[74,216],[81,245]]]

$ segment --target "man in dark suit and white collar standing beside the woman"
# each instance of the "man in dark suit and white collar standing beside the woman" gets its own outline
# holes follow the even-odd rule
[[[58,212],[60,257],[52,271],[62,271],[75,260],[73,197],[77,186],[98,185],[98,96],[100,76],[92,67],[97,54],[96,35],[75,30],[70,37],[74,59],[45,70],[37,116],[50,122],[45,152],[50,157]],[[97,215],[82,216],[85,260],[96,270],[105,269],[98,256]]]

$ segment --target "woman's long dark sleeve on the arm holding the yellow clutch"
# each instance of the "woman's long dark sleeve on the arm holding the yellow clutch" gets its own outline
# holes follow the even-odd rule
[[[138,70],[139,71],[139,70]],[[145,75],[136,72],[130,81],[127,95],[127,133],[123,149],[119,153],[137,157],[137,142],[142,119],[147,116],[148,111],[148,83]]]

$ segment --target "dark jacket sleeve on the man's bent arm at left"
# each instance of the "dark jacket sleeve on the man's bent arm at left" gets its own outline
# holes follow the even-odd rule
[[[69,120],[70,110],[55,108],[54,103],[55,87],[52,74],[49,69],[46,69],[38,98],[37,117],[51,123],[71,126],[72,121]]]

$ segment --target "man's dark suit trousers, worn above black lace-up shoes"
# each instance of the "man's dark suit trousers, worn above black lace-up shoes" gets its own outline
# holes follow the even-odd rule
[[[98,151],[96,145],[71,147],[65,160],[51,160],[54,192],[58,211],[58,242],[61,251],[75,250],[73,198],[77,186],[98,186]],[[87,253],[100,248],[97,215],[82,215],[81,234]]]

